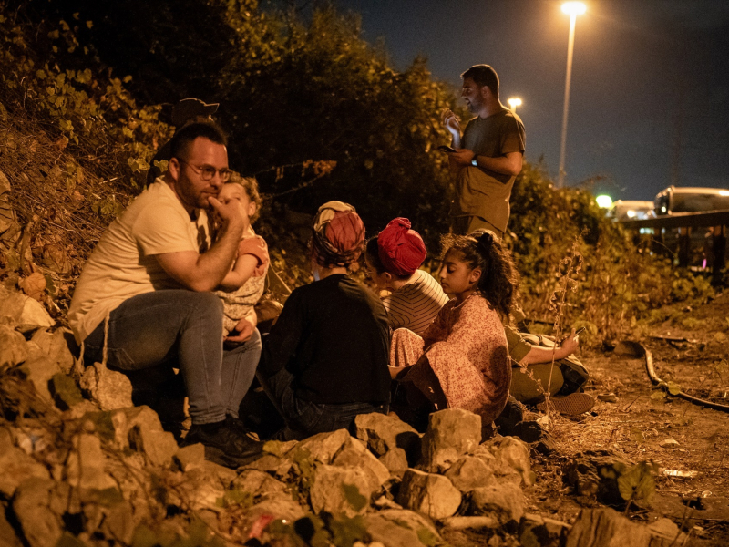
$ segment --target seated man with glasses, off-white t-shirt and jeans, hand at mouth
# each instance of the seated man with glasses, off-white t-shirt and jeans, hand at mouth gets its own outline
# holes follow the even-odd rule
[[[78,280],[68,321],[87,364],[122,371],[179,367],[192,427],[208,459],[238,467],[261,452],[238,420],[261,355],[258,331],[227,338],[222,304],[210,293],[231,268],[243,221],[235,202],[217,200],[231,176],[226,139],[212,122],[173,137],[168,171],[102,235]],[[210,244],[206,211],[221,219]]]

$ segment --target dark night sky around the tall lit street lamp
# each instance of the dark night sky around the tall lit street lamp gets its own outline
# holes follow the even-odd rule
[[[575,36],[566,184],[613,200],[680,186],[729,188],[729,0],[586,2]],[[518,96],[526,158],[555,178],[570,18],[551,0],[338,0],[385,39],[395,68],[428,58],[460,86],[496,68],[501,100]]]

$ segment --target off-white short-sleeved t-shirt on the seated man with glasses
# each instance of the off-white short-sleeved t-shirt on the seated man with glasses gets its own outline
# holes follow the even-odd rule
[[[191,220],[175,192],[157,179],[109,224],[84,265],[68,311],[79,344],[128,298],[183,288],[154,255],[199,253],[210,245],[207,216],[196,212]]]

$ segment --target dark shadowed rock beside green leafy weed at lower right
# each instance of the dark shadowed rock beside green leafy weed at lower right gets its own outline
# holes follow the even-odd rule
[[[629,461],[609,450],[587,450],[570,459],[565,478],[579,496],[596,497],[607,505],[622,505],[618,478],[630,467]]]

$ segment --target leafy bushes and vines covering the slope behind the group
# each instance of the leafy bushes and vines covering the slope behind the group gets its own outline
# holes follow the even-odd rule
[[[395,71],[383,46],[364,41],[356,16],[334,8],[107,4],[0,3],[6,285],[32,286],[64,321],[81,265],[142,190],[172,133],[171,106],[190,96],[221,103],[231,166],[261,182],[257,230],[289,283],[309,280],[308,215],[331,199],[353,203],[370,233],[410,218],[437,255],[451,195],[436,150],[448,141],[439,114],[467,112],[426,59]],[[522,307],[547,324],[559,319],[560,331],[588,327],[589,345],[680,321],[673,310],[714,294],[606,220],[590,191],[556,190],[542,165],[525,166],[511,203],[507,242]]]

